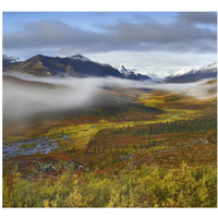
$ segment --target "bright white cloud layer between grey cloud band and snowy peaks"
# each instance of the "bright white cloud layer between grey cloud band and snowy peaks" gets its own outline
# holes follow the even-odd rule
[[[181,69],[196,69],[217,60],[216,53],[192,52],[142,52],[142,51],[111,51],[87,53],[92,60],[109,63],[113,66],[120,64],[135,73],[146,74],[150,77],[166,77]]]

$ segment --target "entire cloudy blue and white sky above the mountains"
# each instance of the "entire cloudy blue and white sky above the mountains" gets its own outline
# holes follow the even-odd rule
[[[3,12],[3,53],[81,53],[164,77],[217,60],[216,12]]]

